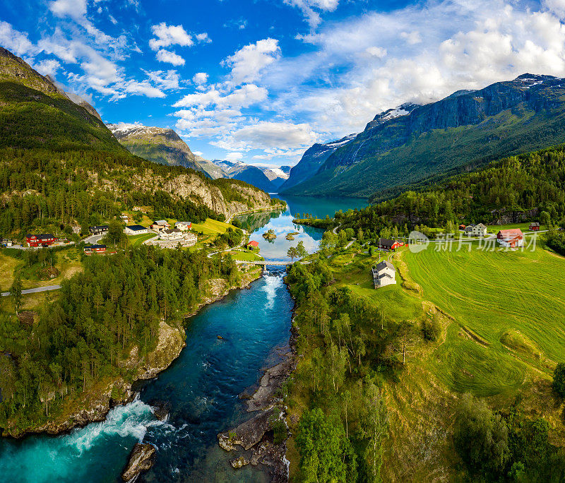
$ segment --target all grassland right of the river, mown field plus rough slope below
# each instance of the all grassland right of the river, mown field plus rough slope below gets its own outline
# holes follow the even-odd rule
[[[564,258],[541,248],[523,254],[403,249],[391,258],[399,269],[397,284],[374,290],[369,269],[376,261],[378,256],[352,251],[334,257],[336,284],[349,286],[396,321],[410,320],[418,329],[423,318],[433,318],[441,326],[436,342],[420,338],[410,346],[400,381],[384,383],[391,426],[385,481],[458,478],[460,462],[448,435],[463,392],[490,396],[494,407],[508,407],[521,393],[525,411],[548,419],[554,442],[563,442],[549,375],[565,354],[565,326],[559,323],[565,313],[559,280]],[[516,280],[531,281],[516,290]],[[289,458],[295,467],[292,443]]]

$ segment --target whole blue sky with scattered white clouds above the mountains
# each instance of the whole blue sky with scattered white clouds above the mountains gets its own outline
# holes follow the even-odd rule
[[[565,76],[565,0],[0,0],[0,44],[106,122],[294,165],[403,102]]]

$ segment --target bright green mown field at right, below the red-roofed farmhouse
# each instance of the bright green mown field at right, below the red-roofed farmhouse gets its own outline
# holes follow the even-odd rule
[[[429,369],[451,390],[514,393],[565,360],[565,259],[535,251],[405,252],[423,297],[449,316]]]

